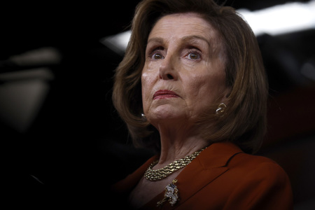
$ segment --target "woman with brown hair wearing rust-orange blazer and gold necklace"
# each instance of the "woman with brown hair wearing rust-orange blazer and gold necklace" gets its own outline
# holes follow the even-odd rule
[[[142,1],[115,78],[113,102],[134,144],[158,151],[113,186],[130,207],[292,208],[283,169],[252,155],[268,87],[255,36],[234,9]]]

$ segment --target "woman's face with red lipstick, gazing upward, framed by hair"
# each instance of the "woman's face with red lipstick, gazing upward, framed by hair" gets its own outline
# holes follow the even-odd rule
[[[148,36],[141,75],[144,113],[151,124],[194,120],[214,102],[224,102],[228,88],[219,40],[195,13],[158,20]]]

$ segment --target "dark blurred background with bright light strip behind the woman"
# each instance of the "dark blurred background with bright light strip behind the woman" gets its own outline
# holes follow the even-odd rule
[[[108,187],[153,154],[133,148],[111,103],[138,2],[2,6],[1,171],[11,205],[109,205]],[[225,5],[252,26],[269,77],[269,127],[258,155],[286,170],[295,209],[314,209],[314,1]]]

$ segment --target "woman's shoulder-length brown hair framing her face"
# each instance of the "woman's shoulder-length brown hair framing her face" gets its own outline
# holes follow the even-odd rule
[[[231,88],[228,107],[223,116],[216,116],[216,130],[204,130],[203,137],[209,142],[232,141],[246,153],[258,151],[266,130],[268,96],[258,43],[234,8],[218,6],[212,0],[144,0],[138,4],[130,42],[116,69],[113,87],[113,104],[134,144],[159,150],[158,130],[141,118],[141,71],[151,29],[160,18],[174,13],[201,15],[218,31],[225,52],[226,85]],[[204,116],[200,123],[207,123],[214,113]]]

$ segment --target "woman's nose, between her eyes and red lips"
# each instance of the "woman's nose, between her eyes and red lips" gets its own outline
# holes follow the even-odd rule
[[[159,78],[162,80],[176,80],[177,71],[175,66],[176,64],[174,58],[170,55],[167,55],[161,62]]]

